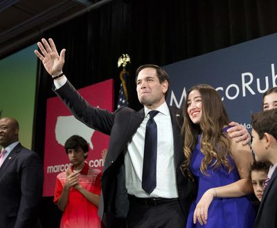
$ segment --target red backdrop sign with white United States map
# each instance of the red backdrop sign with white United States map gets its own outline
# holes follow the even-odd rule
[[[109,79],[78,90],[92,106],[112,111],[114,106],[114,82]],[[47,100],[46,136],[44,149],[44,193],[53,196],[55,178],[69,168],[69,158],[64,143],[72,135],[80,135],[89,143],[87,162],[90,167],[102,170],[101,153],[108,148],[109,137],[75,119],[59,97]]]

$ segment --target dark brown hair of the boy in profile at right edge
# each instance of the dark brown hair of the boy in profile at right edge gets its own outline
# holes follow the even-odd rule
[[[269,133],[277,140],[277,108],[253,114],[251,124],[260,140],[265,133]]]

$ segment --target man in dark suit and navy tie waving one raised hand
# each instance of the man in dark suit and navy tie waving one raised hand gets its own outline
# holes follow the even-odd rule
[[[42,44],[43,43],[43,44]],[[90,106],[75,91],[62,73],[63,49],[58,55],[52,39],[38,43],[41,59],[52,75],[55,93],[73,115],[87,126],[110,135],[109,150],[103,167],[102,194],[98,214],[111,213],[127,218],[128,227],[185,227],[195,185],[181,172],[184,161],[181,125],[183,117],[177,108],[166,104],[169,77],[156,65],[136,70],[136,91],[144,108],[136,112],[128,107],[114,113]],[[159,111],[150,117],[150,111]],[[157,158],[147,164],[145,129],[150,118],[157,123]],[[154,144],[154,141],[152,141]],[[143,186],[145,167],[154,166],[154,185]],[[156,176],[157,175],[157,176]]]

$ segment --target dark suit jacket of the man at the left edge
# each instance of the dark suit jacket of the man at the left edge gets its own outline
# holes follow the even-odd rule
[[[21,144],[0,168],[0,227],[34,227],[42,197],[43,168],[37,153]]]

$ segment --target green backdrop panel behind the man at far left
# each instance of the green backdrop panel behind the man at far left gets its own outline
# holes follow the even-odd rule
[[[0,117],[15,117],[19,140],[31,149],[37,79],[37,45],[29,46],[0,61]],[[0,146],[1,148],[1,146]]]

